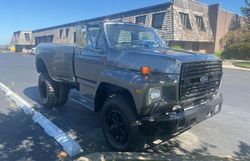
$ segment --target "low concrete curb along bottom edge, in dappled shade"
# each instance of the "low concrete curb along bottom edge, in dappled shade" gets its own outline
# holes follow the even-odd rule
[[[212,156],[212,155],[178,155],[178,154],[160,154],[160,153],[129,153],[129,152],[106,152],[93,153],[82,156],[75,161],[236,161],[232,157]]]

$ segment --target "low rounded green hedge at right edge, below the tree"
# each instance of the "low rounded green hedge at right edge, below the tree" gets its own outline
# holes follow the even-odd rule
[[[225,59],[250,60],[250,42],[240,42],[229,46],[223,53]]]

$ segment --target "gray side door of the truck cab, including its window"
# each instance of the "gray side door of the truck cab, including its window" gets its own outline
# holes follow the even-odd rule
[[[100,25],[77,27],[77,48],[74,57],[75,75],[80,84],[80,93],[93,99],[97,79],[107,61],[104,35]],[[80,38],[79,38],[80,36]]]

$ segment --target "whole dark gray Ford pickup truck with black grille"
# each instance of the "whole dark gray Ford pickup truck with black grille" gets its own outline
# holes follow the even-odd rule
[[[76,27],[76,45],[37,47],[45,107],[73,100],[101,112],[116,151],[136,151],[147,138],[174,136],[221,111],[222,62],[211,54],[171,50],[142,25],[95,22]]]

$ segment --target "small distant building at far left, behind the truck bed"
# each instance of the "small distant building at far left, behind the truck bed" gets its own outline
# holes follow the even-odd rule
[[[32,43],[32,31],[14,32],[10,45],[13,51],[27,52],[34,46]]]

